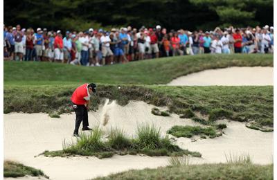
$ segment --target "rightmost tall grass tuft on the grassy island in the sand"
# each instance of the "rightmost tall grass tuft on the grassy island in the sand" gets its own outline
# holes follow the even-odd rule
[[[161,147],[161,128],[154,125],[141,124],[136,130],[137,143],[141,148],[154,150]]]

